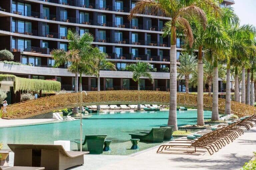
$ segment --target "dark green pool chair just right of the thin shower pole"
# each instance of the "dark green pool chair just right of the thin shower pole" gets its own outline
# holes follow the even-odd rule
[[[89,151],[90,154],[101,154],[106,137],[106,134],[85,135],[84,141],[82,141],[82,151]],[[80,141],[75,142],[77,143],[78,150],[80,150]]]

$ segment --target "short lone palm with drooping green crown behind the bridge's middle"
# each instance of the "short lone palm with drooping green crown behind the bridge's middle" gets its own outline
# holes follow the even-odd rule
[[[126,70],[132,71],[132,79],[135,82],[138,82],[138,90],[140,90],[140,78],[145,77],[150,80],[151,83],[153,83],[153,78],[150,73],[150,70],[152,69],[151,65],[147,62],[137,62],[136,64],[130,64],[126,65]],[[138,110],[141,110],[140,104],[138,104]]]

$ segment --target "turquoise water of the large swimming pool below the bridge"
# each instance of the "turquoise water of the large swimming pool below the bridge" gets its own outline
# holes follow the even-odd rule
[[[129,150],[129,133],[167,125],[168,111],[159,112],[107,112],[93,115],[83,120],[83,134],[107,134],[112,140],[112,151],[104,154],[126,155],[135,151]],[[204,111],[204,118],[211,117],[210,111]],[[178,126],[196,124],[197,111],[177,111]],[[24,120],[25,121],[25,120]],[[79,140],[80,121],[31,125],[22,127],[0,128],[0,141],[4,148],[7,143],[53,144],[55,140],[70,140],[71,149],[77,149],[72,142]],[[157,144],[140,142],[140,148],[146,149]]]

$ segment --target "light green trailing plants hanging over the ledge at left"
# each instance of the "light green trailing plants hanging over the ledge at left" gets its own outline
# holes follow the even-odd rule
[[[11,74],[0,74],[0,81],[7,79],[12,79],[14,81],[13,89],[14,92],[19,90],[26,91],[60,91],[61,84],[54,80],[40,80],[40,79],[29,79],[16,77]]]

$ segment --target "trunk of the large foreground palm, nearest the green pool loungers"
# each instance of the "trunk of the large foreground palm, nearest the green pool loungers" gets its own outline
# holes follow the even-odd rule
[[[171,28],[171,49],[170,49],[170,108],[168,125],[173,125],[173,130],[178,130],[177,125],[177,51],[176,51],[176,28]]]

